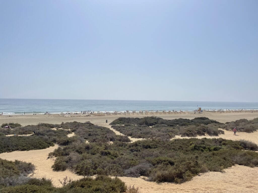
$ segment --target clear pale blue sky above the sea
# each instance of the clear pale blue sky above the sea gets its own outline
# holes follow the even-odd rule
[[[257,102],[257,7],[0,0],[0,98]]]

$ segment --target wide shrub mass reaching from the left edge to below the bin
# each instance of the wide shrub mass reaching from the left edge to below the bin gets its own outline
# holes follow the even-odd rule
[[[53,127],[57,129],[51,129]],[[75,136],[68,137],[67,135],[72,132],[75,133]],[[10,134],[33,135],[5,136]],[[116,135],[114,131],[111,131],[106,127],[93,125],[90,122],[67,122],[60,125],[40,123],[38,125],[27,125],[24,127],[16,127],[14,129],[0,129],[0,139],[0,153],[17,150],[44,149],[53,146],[54,143],[62,146],[71,143],[85,143],[85,140],[88,142],[102,143],[114,141],[130,142],[130,139],[127,136]]]

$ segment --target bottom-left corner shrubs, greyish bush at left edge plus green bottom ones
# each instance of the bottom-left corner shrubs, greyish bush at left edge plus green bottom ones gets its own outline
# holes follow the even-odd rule
[[[73,181],[65,177],[60,179],[61,188],[53,187],[50,179],[31,178],[28,174],[32,173],[35,166],[31,163],[15,160],[7,161],[0,159],[0,192],[1,193],[120,193],[120,192],[139,192],[134,187],[127,187],[123,181],[118,178],[107,176],[97,176],[93,178],[82,178]]]

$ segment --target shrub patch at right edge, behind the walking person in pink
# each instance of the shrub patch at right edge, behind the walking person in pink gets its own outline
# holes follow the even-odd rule
[[[237,131],[252,133],[258,129],[258,118],[249,121],[247,119],[239,119],[236,121],[226,122],[226,125],[222,128],[232,130],[235,126],[237,126]]]

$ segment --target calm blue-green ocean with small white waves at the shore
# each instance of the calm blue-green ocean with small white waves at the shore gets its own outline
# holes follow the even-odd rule
[[[193,111],[258,109],[258,102],[207,102],[207,101],[134,101],[134,100],[65,100],[65,99],[0,99],[0,113],[44,114],[61,112],[124,112],[128,111]]]

